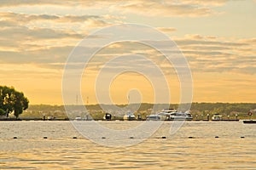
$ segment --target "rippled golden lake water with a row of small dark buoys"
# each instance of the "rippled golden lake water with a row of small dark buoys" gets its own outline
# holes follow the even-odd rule
[[[125,129],[142,122],[99,123]],[[184,122],[171,135],[172,123],[113,148],[84,139],[71,122],[0,122],[0,169],[256,169],[256,124]]]

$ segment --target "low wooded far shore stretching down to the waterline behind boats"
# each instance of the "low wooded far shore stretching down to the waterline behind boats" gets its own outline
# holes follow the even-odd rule
[[[9,118],[0,116],[0,121],[70,121],[78,117],[81,120],[88,120],[90,116],[95,121],[105,121],[103,117],[110,113],[113,118],[111,121],[123,121],[123,117],[115,116],[119,112],[114,111],[113,105],[29,105],[26,111],[18,119],[14,115]],[[134,116],[145,121],[147,116],[157,114],[166,109],[166,104],[148,104],[143,103],[137,108],[137,104],[116,105],[119,108],[126,107],[126,110],[134,111]],[[180,109],[183,105],[170,104],[169,108]],[[86,107],[86,109],[84,109]],[[107,108],[107,109],[106,109]],[[154,108],[154,109],[153,109]],[[106,110],[106,111],[105,111]],[[248,115],[252,112],[252,116]],[[237,122],[239,120],[256,119],[256,103],[192,103],[189,113],[194,117],[192,121],[219,121],[212,120],[212,116],[221,115],[220,121]]]

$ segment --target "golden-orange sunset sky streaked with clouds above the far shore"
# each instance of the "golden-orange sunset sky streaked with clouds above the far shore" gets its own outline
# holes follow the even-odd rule
[[[96,31],[129,23],[150,26],[177,44],[191,71],[193,102],[256,102],[255,0],[1,0],[0,85],[24,92],[32,105],[63,105],[62,78],[73,49]],[[180,102],[180,77],[163,54],[137,42],[113,42],[84,68],[82,98],[73,89],[69,104],[96,104],[107,95],[97,91],[104,81],[100,88],[96,83],[109,61],[108,76],[133,65],[151,68],[148,72],[157,78],[148,60],[163,71],[168,90],[154,87],[143,73],[119,72],[105,85],[112,102],[154,103],[157,93],[169,93],[170,103]]]

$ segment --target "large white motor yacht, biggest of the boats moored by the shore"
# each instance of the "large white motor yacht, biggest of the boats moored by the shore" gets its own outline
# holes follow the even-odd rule
[[[178,112],[174,109],[164,109],[163,111],[160,111],[158,115],[162,117],[164,116],[166,121],[191,121],[193,119],[193,116],[189,113],[189,111]]]

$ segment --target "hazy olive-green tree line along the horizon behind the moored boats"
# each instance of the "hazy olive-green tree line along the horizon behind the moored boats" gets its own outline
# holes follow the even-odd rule
[[[125,107],[126,105],[118,105],[119,107]],[[134,105],[130,105],[131,110]],[[156,108],[156,111],[161,111],[164,108],[163,104],[148,104],[143,103],[140,105],[137,113],[141,113],[145,116],[151,114],[151,109],[153,106]],[[69,105],[73,111],[81,110],[84,105]],[[111,107],[110,107],[111,108]],[[177,104],[169,105],[169,108],[177,109]],[[86,105],[86,109],[91,111],[90,114],[93,115],[104,115],[104,111],[102,111],[101,105]],[[247,116],[247,112],[256,109],[255,103],[192,103],[190,112],[193,116],[206,116],[207,114],[222,114],[224,116],[235,116],[238,114],[239,116]],[[62,115],[65,115],[65,108],[63,105],[31,105],[29,110],[30,116],[32,115],[43,115],[45,113],[53,113],[54,111],[61,112]],[[55,113],[55,114],[58,114]],[[255,114],[255,113],[254,113]],[[57,116],[57,115],[56,115]]]

